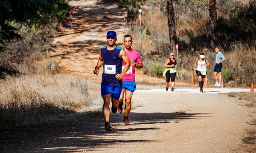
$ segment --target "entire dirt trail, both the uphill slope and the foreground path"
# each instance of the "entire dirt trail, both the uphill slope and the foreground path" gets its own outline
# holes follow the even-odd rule
[[[51,55],[61,57],[63,73],[100,81],[92,74],[98,50],[110,29],[117,31],[118,42],[122,42],[124,10],[96,0],[70,4],[84,11],[75,13],[73,29],[67,27],[55,38]],[[139,75],[139,79],[148,78]],[[104,119],[82,117],[43,128],[17,129],[6,132],[0,152],[243,153],[241,137],[250,128],[246,122],[256,116],[255,108],[243,103],[227,94],[137,90],[129,126],[122,123],[123,113],[111,113],[113,132],[104,130]]]

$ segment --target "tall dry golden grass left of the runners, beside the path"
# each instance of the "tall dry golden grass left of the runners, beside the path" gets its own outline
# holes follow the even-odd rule
[[[99,93],[83,78],[31,75],[0,80],[0,128],[51,122],[89,106]]]

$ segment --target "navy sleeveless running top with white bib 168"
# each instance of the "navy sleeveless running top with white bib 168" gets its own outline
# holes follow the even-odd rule
[[[100,48],[103,59],[102,83],[122,87],[122,80],[116,78],[116,74],[122,73],[122,58],[119,57],[122,48],[116,46],[109,51],[107,46]]]

